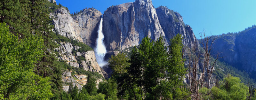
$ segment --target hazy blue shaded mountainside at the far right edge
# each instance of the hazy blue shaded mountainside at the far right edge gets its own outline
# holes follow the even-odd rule
[[[221,61],[225,61],[238,69],[256,71],[256,26],[252,26],[239,33],[228,33],[217,36],[213,44],[212,53],[220,54]],[[254,73],[253,73],[254,72]]]

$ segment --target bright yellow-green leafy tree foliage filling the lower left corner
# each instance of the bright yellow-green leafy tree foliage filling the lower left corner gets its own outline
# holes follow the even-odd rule
[[[18,39],[0,23],[0,98],[45,99],[52,96],[49,78],[33,73],[43,56],[42,37]]]

